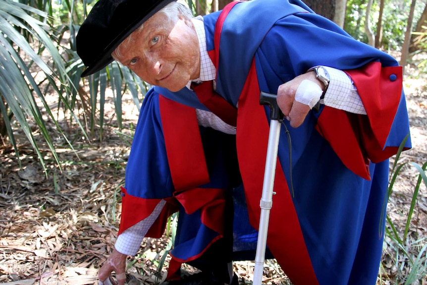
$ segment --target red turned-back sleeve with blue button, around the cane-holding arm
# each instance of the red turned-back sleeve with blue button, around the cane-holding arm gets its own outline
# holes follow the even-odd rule
[[[381,67],[380,62],[371,62],[346,72],[354,81],[367,115],[325,106],[316,128],[348,169],[370,180],[371,161],[381,162],[398,148],[384,146],[400,103],[402,67]]]

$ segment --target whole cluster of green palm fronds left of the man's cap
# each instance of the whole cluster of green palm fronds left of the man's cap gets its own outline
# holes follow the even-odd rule
[[[60,166],[52,134],[46,126],[46,115],[73,149],[45,100],[48,89],[50,94],[57,96],[56,107],[63,110],[68,125],[70,122],[77,123],[83,136],[90,141],[87,131],[93,138],[96,128],[99,129],[99,139],[103,139],[107,89],[113,92],[117,126],[121,128],[123,94],[129,91],[139,109],[141,99],[150,87],[117,62],[112,62],[94,75],[80,78],[84,64],[75,51],[75,36],[84,15],[95,2],[0,0],[0,114],[16,154],[19,149],[13,130],[21,128],[43,168],[44,155],[40,151],[38,137],[43,138]],[[58,15],[63,20],[59,24]],[[55,21],[57,26],[53,26]],[[34,79],[34,71],[38,72],[38,77],[42,75],[42,79]],[[43,114],[41,107],[45,110]],[[11,119],[12,116],[14,119]],[[37,136],[32,132],[34,127]],[[17,158],[19,160],[19,155]]]

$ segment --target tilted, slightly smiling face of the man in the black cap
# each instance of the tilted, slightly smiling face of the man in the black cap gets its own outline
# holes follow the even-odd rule
[[[199,77],[197,34],[183,19],[171,22],[162,13],[154,14],[130,37],[134,41],[120,47],[116,59],[147,83],[176,92]]]

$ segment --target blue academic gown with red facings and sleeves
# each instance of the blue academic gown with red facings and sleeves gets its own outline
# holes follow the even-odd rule
[[[193,91],[154,87],[144,99],[126,168],[119,233],[166,200],[147,235],[160,237],[166,218],[179,211],[169,268],[175,273],[222,237],[231,188],[234,250],[253,249],[269,127],[260,91],[276,93],[284,82],[325,65],[347,72],[367,115],[321,105],[298,128],[283,122],[267,246],[295,285],[375,284],[388,158],[409,134],[402,68],[298,0],[233,2],[204,16],[204,23],[216,92],[238,106],[238,167],[229,170],[230,135],[198,126],[194,109],[209,109]],[[236,176],[243,181],[238,187]]]

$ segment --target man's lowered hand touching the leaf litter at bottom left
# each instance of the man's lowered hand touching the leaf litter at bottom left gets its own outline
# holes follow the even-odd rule
[[[124,285],[126,281],[126,257],[127,255],[114,249],[104,265],[98,271],[99,280],[101,282],[105,282],[110,278],[111,272],[114,271],[117,278],[117,285]]]

